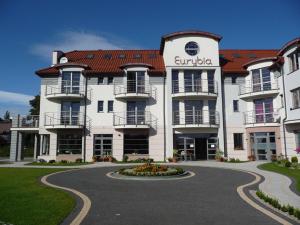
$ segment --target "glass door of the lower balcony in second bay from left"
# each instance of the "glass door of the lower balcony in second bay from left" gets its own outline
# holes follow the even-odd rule
[[[145,101],[128,101],[126,120],[129,125],[145,124]]]

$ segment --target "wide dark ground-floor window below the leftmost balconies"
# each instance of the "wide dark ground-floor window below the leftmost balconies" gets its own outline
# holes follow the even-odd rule
[[[81,134],[58,134],[57,153],[58,154],[81,154],[82,135]]]

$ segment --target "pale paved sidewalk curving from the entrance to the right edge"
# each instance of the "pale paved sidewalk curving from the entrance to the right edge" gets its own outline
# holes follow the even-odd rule
[[[265,162],[220,163],[215,161],[195,161],[183,162],[180,165],[239,169],[257,173],[265,178],[259,185],[261,191],[271,197],[277,198],[282,204],[290,204],[300,208],[300,196],[291,191],[290,185],[292,181],[290,178],[278,173],[258,169],[257,166],[263,163]]]

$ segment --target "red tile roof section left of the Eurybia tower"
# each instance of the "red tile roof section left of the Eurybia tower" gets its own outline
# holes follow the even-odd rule
[[[123,58],[122,55],[125,55]],[[149,74],[164,74],[165,65],[159,50],[94,50],[72,51],[64,53],[68,63],[87,65],[87,74],[122,74],[122,66],[130,64],[147,64]],[[36,71],[37,75],[58,74],[58,68],[48,67]]]

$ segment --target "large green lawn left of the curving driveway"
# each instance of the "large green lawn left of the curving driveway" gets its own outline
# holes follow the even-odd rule
[[[59,169],[0,168],[0,221],[14,225],[57,225],[72,211],[71,194],[39,179]]]

